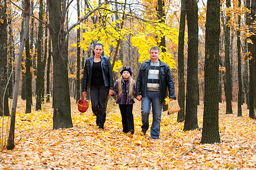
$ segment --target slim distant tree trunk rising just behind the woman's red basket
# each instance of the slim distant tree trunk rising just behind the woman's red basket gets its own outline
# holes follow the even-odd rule
[[[79,1],[77,1],[77,17],[78,20],[80,18],[80,5]],[[77,101],[80,99],[81,89],[80,89],[80,56],[81,56],[81,48],[80,48],[80,27],[77,28],[77,79],[76,79],[76,99]]]

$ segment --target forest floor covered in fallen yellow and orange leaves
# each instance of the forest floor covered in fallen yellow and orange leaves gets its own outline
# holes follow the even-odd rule
[[[246,105],[243,116],[237,117],[236,103],[233,114],[225,114],[225,104],[220,103],[221,143],[200,145],[202,130],[184,132],[184,122],[177,123],[177,114],[167,111],[162,113],[160,139],[151,139],[150,130],[142,135],[140,104],[136,101],[133,106],[135,134],[131,135],[122,132],[119,107],[112,99],[104,130],[95,125],[90,108],[78,112],[75,100],[74,127],[58,130],[53,130],[52,103],[42,104],[41,111],[33,105],[32,113],[25,114],[26,101],[19,100],[15,148],[0,153],[0,169],[256,169],[256,120],[249,118]],[[7,120],[3,120],[4,132]],[[203,103],[198,107],[199,128],[202,124]]]

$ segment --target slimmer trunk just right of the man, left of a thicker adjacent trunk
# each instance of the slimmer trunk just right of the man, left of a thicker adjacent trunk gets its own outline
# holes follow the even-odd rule
[[[185,118],[185,81],[184,81],[184,35],[186,23],[186,0],[181,1],[181,19],[179,21],[179,44],[178,44],[178,75],[179,92],[178,103],[181,111],[178,112],[177,122],[183,122]]]

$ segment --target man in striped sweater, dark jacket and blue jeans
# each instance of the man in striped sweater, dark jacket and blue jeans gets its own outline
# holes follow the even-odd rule
[[[169,100],[176,99],[170,67],[160,61],[159,56],[160,49],[153,46],[150,49],[150,59],[141,64],[136,83],[136,98],[141,100],[141,129],[144,134],[149,129],[149,111],[152,104],[153,122],[150,135],[153,139],[159,138],[162,103],[165,101],[167,88]]]

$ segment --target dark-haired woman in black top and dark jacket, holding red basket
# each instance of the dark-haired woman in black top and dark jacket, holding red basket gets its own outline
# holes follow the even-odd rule
[[[87,86],[90,87],[91,109],[96,116],[96,125],[104,128],[106,121],[107,95],[114,94],[112,66],[108,57],[102,56],[103,45],[97,43],[93,48],[93,57],[87,58],[83,69],[83,95],[86,95]]]

